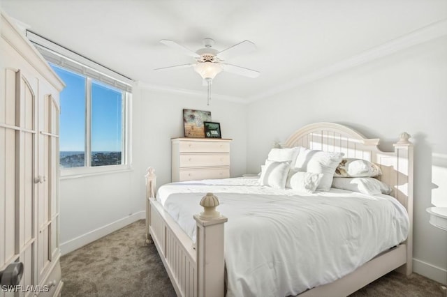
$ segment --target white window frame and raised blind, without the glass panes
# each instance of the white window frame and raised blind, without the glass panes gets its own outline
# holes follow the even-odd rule
[[[97,174],[110,174],[129,171],[131,167],[131,117],[132,117],[132,86],[133,81],[109,68],[105,68],[94,61],[71,52],[52,41],[27,31],[27,37],[43,55],[43,58],[55,67],[68,70],[85,78],[85,162],[82,167],[60,167],[60,178],[78,178]],[[59,61],[59,63],[57,63]],[[71,67],[65,67],[64,61],[71,63]],[[80,71],[76,68],[86,69]],[[83,73],[82,73],[83,72]],[[93,75],[89,75],[89,74]],[[100,77],[100,79],[98,79]],[[104,79],[101,79],[104,78]],[[91,166],[91,84],[92,82],[110,86],[122,91],[122,164]],[[110,83],[112,82],[112,84]],[[63,110],[61,110],[63,112]],[[60,131],[59,131],[60,132]],[[59,160],[59,159],[58,159]],[[59,163],[60,166],[60,163]]]

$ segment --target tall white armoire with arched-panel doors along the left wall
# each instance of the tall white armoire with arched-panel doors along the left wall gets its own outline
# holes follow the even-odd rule
[[[24,264],[20,289],[0,296],[57,296],[64,83],[3,12],[0,30],[0,270]]]

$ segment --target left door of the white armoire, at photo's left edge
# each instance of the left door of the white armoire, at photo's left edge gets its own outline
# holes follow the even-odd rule
[[[24,264],[21,284],[37,284],[36,261],[36,80],[4,70],[0,96],[0,226],[4,230],[0,266]],[[3,190],[4,189],[4,190]],[[27,296],[27,294],[24,294]],[[22,296],[22,294],[20,294]]]

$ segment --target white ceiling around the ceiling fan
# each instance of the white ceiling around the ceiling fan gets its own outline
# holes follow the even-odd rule
[[[193,63],[159,43],[191,50],[213,38],[223,50],[242,40],[258,50],[228,61],[261,71],[256,79],[219,73],[212,92],[235,100],[274,93],[309,73],[447,19],[446,0],[0,0],[31,31],[147,85],[205,92]],[[283,88],[283,89],[284,89]]]

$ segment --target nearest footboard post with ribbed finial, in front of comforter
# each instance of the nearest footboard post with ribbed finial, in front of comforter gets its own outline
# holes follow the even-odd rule
[[[223,297],[225,261],[223,254],[223,224],[228,221],[218,211],[219,199],[207,193],[200,201],[204,211],[196,220],[196,264],[198,297]]]

